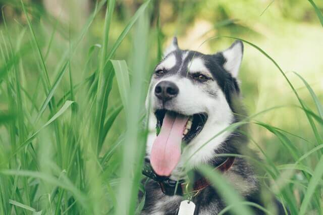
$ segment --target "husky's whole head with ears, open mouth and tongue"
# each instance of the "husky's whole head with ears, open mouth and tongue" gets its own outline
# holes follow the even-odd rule
[[[213,138],[234,120],[231,102],[239,93],[236,77],[242,53],[241,41],[204,55],[181,50],[174,38],[155,67],[146,99],[149,129],[156,127],[158,134],[149,135],[147,154],[158,175],[181,178],[185,165],[209,161],[228,137],[224,132]]]

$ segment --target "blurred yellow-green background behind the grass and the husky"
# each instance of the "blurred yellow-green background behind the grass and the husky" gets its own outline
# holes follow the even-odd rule
[[[49,80],[55,80],[59,74],[57,65],[71,46],[71,41],[77,40],[84,26],[88,25],[88,20],[97,8],[97,2],[94,0],[23,0],[22,2],[26,7],[40,51],[45,58]],[[116,1],[110,26],[109,44],[107,44],[108,50],[113,47],[120,33],[143,3],[144,1],[139,0]],[[322,11],[323,2],[315,1],[315,4]],[[20,44],[31,44],[32,34],[29,31],[21,1],[0,0],[0,8],[2,9],[0,12],[1,50],[8,51],[8,38],[14,43],[13,50],[19,48],[17,41]],[[74,83],[83,83],[97,69],[99,57],[96,53],[102,46],[105,13],[106,4],[103,4],[77,45],[73,58],[70,59]],[[297,72],[308,82],[320,102],[323,100],[323,28],[308,1],[155,0],[147,6],[145,16],[148,32],[147,37],[143,38],[147,46],[147,52],[143,53],[147,56],[146,68],[143,71],[144,90],[147,90],[153,68],[160,60],[160,49],[164,49],[174,35],[178,37],[180,48],[203,53],[215,53],[229,47],[234,39],[223,36],[231,36],[257,45],[272,57],[309,108],[314,109],[315,103],[302,80],[293,72]],[[133,49],[138,47],[134,46],[134,37],[134,29],[130,29],[130,33],[126,35],[112,58],[126,60],[129,68],[136,65]],[[24,56],[23,64],[19,66],[24,71],[23,91],[28,92],[28,96],[32,97],[29,99],[32,102],[27,102],[30,105],[29,110],[39,107],[45,98],[43,94],[39,95],[42,81],[39,78],[41,64],[36,59],[35,51],[28,52]],[[4,63],[2,58],[0,65]],[[132,83],[132,69],[129,69],[129,76]],[[55,92],[57,100],[64,97],[70,89],[70,78],[66,74],[60,82]],[[281,106],[258,115],[254,121],[278,127],[301,136],[309,142],[317,141],[303,110],[295,106],[299,103],[286,79],[270,60],[246,43],[239,80],[249,115]],[[0,82],[0,86],[0,111],[6,112],[9,109],[10,96],[15,97],[15,95],[8,94],[5,87],[7,84]],[[110,96],[109,109],[114,109],[121,100],[116,80]],[[78,99],[82,101],[82,96]],[[45,111],[47,112],[48,110]],[[34,115],[31,114],[30,117]],[[46,122],[45,119],[41,121]],[[121,111],[104,140],[100,155],[109,151],[124,134],[125,122],[126,114]],[[321,128],[318,128],[318,133],[322,133]],[[312,147],[295,135],[288,136],[294,146],[302,151],[301,153]],[[0,127],[4,153],[11,150],[11,143],[7,141],[10,139],[9,136],[6,129]],[[275,164],[286,164],[293,160],[289,151],[282,147],[277,136],[269,130],[251,125],[250,136]],[[250,145],[256,148],[253,143]],[[120,153],[122,152],[116,153],[115,158],[112,159],[118,160]],[[260,156],[263,157],[262,154]],[[310,159],[308,162],[314,164],[317,159]]]

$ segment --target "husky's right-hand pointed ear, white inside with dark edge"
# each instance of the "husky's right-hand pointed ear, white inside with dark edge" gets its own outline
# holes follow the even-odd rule
[[[223,67],[232,77],[237,78],[242,61],[243,43],[236,40],[228,49],[222,51],[222,55],[226,60]]]

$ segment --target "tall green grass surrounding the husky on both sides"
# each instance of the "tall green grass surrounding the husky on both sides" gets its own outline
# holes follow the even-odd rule
[[[138,191],[145,196],[140,181],[148,120],[144,100],[150,71],[162,57],[165,34],[189,35],[181,28],[189,31],[194,21],[191,16],[213,19],[205,18],[204,13],[209,12],[203,11],[213,4],[218,4],[217,12],[224,17],[212,21],[212,27],[198,35],[207,41],[196,45],[200,50],[205,45],[226,46],[232,39],[244,41],[246,63],[241,80],[244,100],[251,109],[249,117],[214,137],[242,125],[251,127],[246,135],[262,160],[248,154],[230,155],[244,157],[259,169],[265,200],[264,207],[246,202],[224,177],[203,166],[199,171],[228,204],[221,214],[251,214],[250,207],[275,214],[268,197],[272,195],[292,214],[323,214],[322,93],[312,84],[313,78],[305,78],[297,67],[292,69],[296,72],[287,73],[281,63],[290,56],[280,59],[277,52],[265,51],[271,47],[263,41],[271,38],[251,34],[257,28],[247,20],[244,24],[234,16],[227,17],[226,13],[234,10],[231,3],[205,1],[207,7],[200,2],[177,8],[177,20],[183,22],[177,29],[177,21],[164,20],[169,9],[155,7],[157,1],[142,1],[136,7],[115,0],[97,1],[81,25],[54,18],[34,3],[2,2],[8,5],[3,8],[0,25],[0,214],[138,213],[144,204],[144,198],[140,202],[137,198]],[[302,5],[304,10],[322,24],[318,3],[309,0],[307,4]],[[8,15],[8,7],[19,17]],[[251,5],[244,7],[253,10]],[[276,13],[284,26],[303,26],[291,22],[292,15],[287,19],[275,7],[275,1],[268,1],[255,17],[250,9],[249,19],[261,17],[264,23],[274,23],[271,13]],[[308,26],[313,32],[320,27],[321,32],[316,17]],[[214,31],[215,37],[209,35]],[[180,46],[183,40],[179,40]],[[280,45],[282,49],[284,44]],[[302,50],[310,55],[311,50]],[[319,60],[317,71],[321,72]],[[255,75],[255,66],[265,72]],[[268,80],[268,73],[274,89],[260,92],[259,87],[258,92],[254,86]],[[264,78],[253,80],[253,76]],[[256,96],[256,101],[250,102]],[[267,100],[263,106],[254,104],[261,99]]]

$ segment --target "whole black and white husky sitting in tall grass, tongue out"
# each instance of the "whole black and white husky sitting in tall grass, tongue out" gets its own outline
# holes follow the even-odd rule
[[[247,138],[239,132],[243,128],[222,132],[245,116],[237,80],[243,43],[235,41],[224,51],[204,55],[180,49],[174,37],[164,55],[146,98],[150,133],[145,162],[152,171],[144,174],[153,180],[145,183],[141,214],[177,214],[185,200],[182,185],[188,170],[199,182],[192,188],[194,214],[218,214],[226,205],[196,170],[203,164],[221,166],[223,176],[247,201],[262,205],[258,181],[247,160],[217,156],[239,154],[241,146],[246,148]]]

